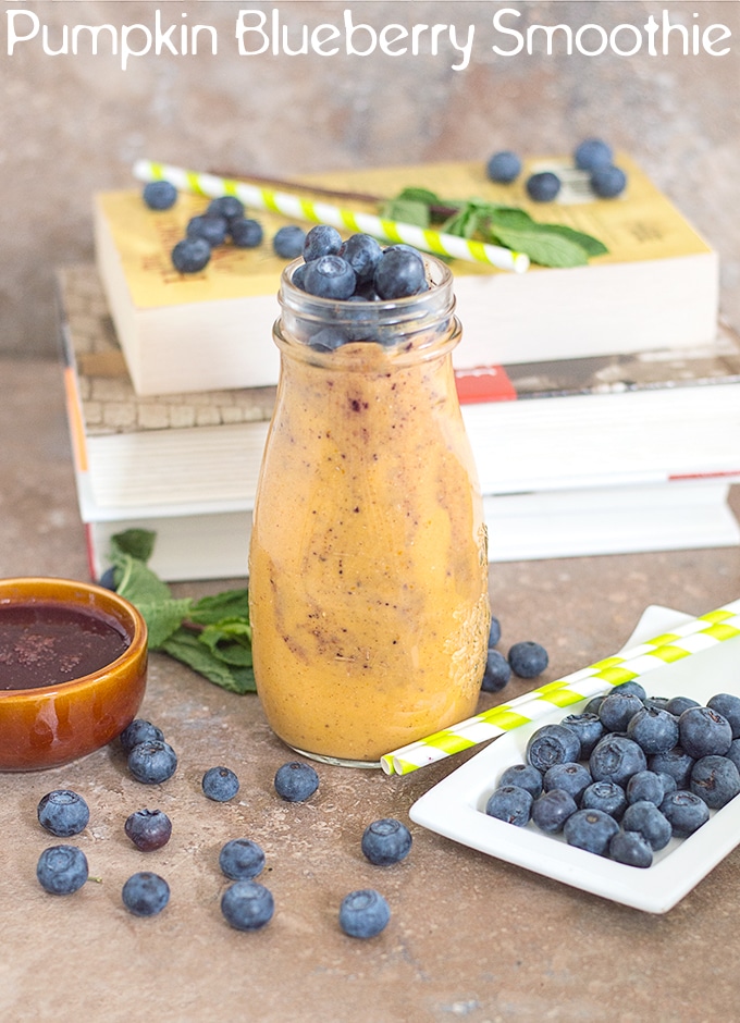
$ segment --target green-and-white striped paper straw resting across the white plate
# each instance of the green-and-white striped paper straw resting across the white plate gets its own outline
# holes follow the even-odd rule
[[[523,693],[521,697],[476,714],[458,725],[419,739],[381,756],[388,774],[405,775],[460,753],[479,742],[495,739],[521,725],[528,725],[553,711],[589,697],[607,692],[631,679],[642,678],[656,668],[689,657],[740,636],[740,600],[684,623],[673,632],[664,632],[605,661],[597,661],[560,679]]]

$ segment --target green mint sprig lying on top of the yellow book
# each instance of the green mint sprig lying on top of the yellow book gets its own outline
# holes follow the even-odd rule
[[[440,209],[447,215],[441,219]],[[540,223],[519,207],[474,198],[442,199],[427,188],[404,188],[384,204],[383,215],[417,227],[435,225],[445,234],[526,252],[541,267],[583,267],[593,256],[608,251],[593,235],[566,224]]]

